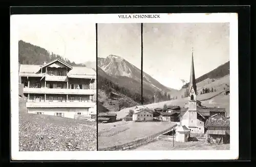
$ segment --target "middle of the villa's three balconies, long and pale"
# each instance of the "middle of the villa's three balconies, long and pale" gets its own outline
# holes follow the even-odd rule
[[[96,89],[23,88],[24,93],[39,94],[96,94]]]

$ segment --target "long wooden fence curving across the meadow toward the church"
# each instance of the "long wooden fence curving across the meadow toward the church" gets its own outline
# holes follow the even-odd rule
[[[128,142],[123,145],[118,145],[118,146],[113,146],[113,147],[108,147],[108,148],[101,148],[101,149],[98,149],[98,151],[121,151],[121,150],[129,150],[129,149],[132,149],[135,147],[139,147],[139,146],[147,144],[148,142],[156,140],[159,135],[162,135],[164,133],[167,133],[170,130],[173,130],[176,126],[177,125],[174,125],[173,127],[168,128],[164,131],[158,132],[156,134],[147,136],[145,138],[142,138],[142,139],[139,139],[136,141]]]

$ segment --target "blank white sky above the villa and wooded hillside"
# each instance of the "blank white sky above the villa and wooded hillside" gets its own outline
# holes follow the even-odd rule
[[[96,61],[96,25],[81,16],[24,15],[19,40],[40,46],[76,63]]]

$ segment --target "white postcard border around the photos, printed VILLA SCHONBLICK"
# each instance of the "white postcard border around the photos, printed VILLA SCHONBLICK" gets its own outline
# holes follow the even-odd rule
[[[159,13],[158,13],[159,14]],[[237,159],[239,156],[238,102],[238,14],[237,13],[164,13],[160,18],[119,18],[121,14],[12,15],[10,28],[11,66],[11,159],[12,160],[201,160]],[[123,14],[134,15],[134,14]],[[142,15],[142,14],[137,14]],[[148,14],[146,14],[148,15]],[[230,23],[230,150],[201,151],[18,151],[18,23],[41,17],[45,21],[78,23],[171,23],[229,22]]]

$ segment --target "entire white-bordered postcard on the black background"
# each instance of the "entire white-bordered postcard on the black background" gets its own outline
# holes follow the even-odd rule
[[[11,62],[13,160],[238,158],[236,13],[12,15]]]

